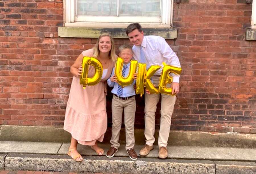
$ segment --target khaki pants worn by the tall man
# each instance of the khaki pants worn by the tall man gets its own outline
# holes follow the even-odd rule
[[[158,88],[160,76],[152,76],[153,84]],[[165,94],[147,94],[145,92],[145,131],[144,135],[146,138],[146,144],[152,146],[155,138],[155,112],[156,104],[159,102],[161,95],[161,119],[160,119],[160,130],[158,137],[158,146],[166,147],[170,127],[171,118],[176,101],[176,96],[165,95]]]

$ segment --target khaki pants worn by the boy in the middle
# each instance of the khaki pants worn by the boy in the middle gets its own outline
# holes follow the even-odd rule
[[[128,100],[123,100],[115,95],[112,99],[112,136],[111,136],[111,147],[116,149],[119,148],[120,143],[119,135],[122,125],[122,115],[124,110],[124,122],[125,122],[125,137],[126,146],[125,149],[130,149],[134,147],[134,119],[136,111],[136,101],[135,96],[129,98]]]

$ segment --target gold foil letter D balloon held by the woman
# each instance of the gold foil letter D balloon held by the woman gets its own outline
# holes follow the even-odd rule
[[[95,74],[93,77],[88,77],[89,65],[95,68]],[[99,83],[102,77],[103,67],[101,62],[94,57],[83,57],[82,61],[82,74],[80,76],[80,84],[83,85],[85,89],[85,85],[96,85]]]

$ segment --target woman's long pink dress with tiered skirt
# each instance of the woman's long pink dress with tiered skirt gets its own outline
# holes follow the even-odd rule
[[[92,49],[83,51],[84,56],[91,57]],[[104,79],[94,86],[86,85],[83,89],[80,78],[73,77],[69,100],[67,102],[64,130],[83,145],[94,145],[103,141],[107,130],[106,112],[106,80],[110,77],[114,63],[111,60]],[[88,76],[94,75],[94,68],[90,66]]]

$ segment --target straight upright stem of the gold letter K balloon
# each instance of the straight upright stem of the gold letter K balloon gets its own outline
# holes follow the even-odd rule
[[[136,94],[140,94],[141,97],[144,94],[144,79],[146,75],[146,64],[138,64],[138,74],[136,79]]]

